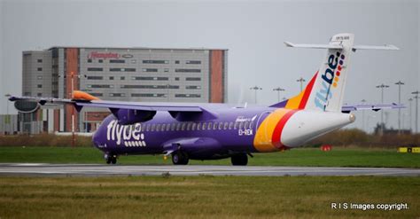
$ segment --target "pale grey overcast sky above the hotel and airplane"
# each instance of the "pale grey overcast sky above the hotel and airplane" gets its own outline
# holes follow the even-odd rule
[[[323,50],[292,49],[293,43],[328,43],[332,35],[354,33],[355,44],[392,43],[400,51],[356,51],[349,65],[345,103],[379,103],[376,88],[385,83],[385,102],[408,106],[420,90],[419,1],[29,1],[0,0],[0,113],[4,94],[21,94],[22,51],[51,46],[206,47],[229,49],[229,103],[259,105],[299,93],[321,66]],[[415,102],[412,107],[414,127]],[[11,105],[12,106],[12,105]],[[10,107],[12,112],[12,107]],[[387,125],[398,127],[398,111],[385,112]],[[362,128],[362,113],[350,128]],[[409,128],[409,109],[401,110]],[[369,124],[368,124],[369,121]],[[366,112],[369,130],[380,113]]]

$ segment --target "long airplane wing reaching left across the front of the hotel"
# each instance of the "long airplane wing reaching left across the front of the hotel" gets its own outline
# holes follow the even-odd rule
[[[110,109],[133,109],[143,111],[168,111],[168,112],[203,112],[200,106],[186,105],[186,104],[167,104],[167,103],[142,103],[142,102],[122,102],[111,100],[86,100],[86,99],[67,99],[67,98],[32,98],[32,97],[11,97],[11,101],[33,101],[40,105],[45,104],[70,104],[76,107],[77,110],[82,109],[83,106],[99,107]]]

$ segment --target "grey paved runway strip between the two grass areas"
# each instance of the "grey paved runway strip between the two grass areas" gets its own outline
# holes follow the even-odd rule
[[[420,176],[416,168],[321,168],[265,166],[135,166],[0,163],[0,175],[18,176]]]

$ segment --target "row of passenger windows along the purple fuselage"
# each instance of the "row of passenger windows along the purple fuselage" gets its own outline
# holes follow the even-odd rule
[[[253,129],[253,121],[219,121],[219,122],[176,122],[142,124],[145,131],[199,131],[199,130],[231,130]]]

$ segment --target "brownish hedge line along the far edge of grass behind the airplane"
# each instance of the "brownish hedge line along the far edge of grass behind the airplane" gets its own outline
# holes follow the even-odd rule
[[[395,135],[387,134],[377,136],[367,134],[361,129],[338,129],[322,137],[317,137],[305,146],[317,147],[320,145],[333,146],[362,146],[362,147],[388,147],[395,148],[401,145],[420,145],[420,134]],[[35,136],[0,136],[0,146],[72,146],[72,136],[57,136],[41,134]],[[90,147],[92,137],[75,137],[75,146]]]

